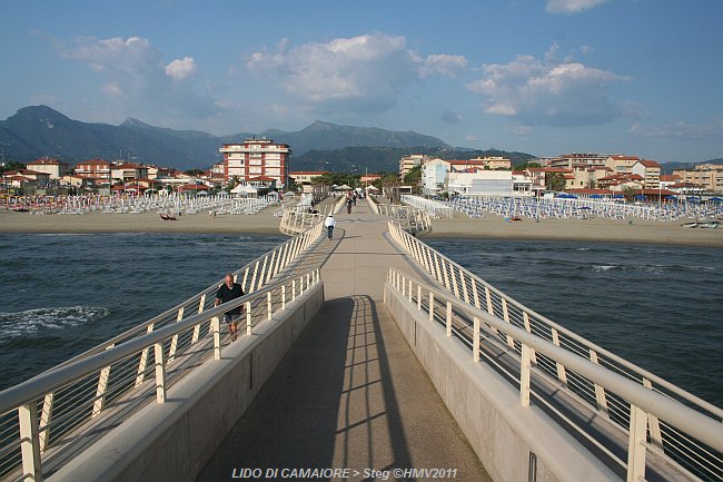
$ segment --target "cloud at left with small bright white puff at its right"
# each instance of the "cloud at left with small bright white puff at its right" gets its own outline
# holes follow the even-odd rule
[[[219,107],[192,91],[198,70],[191,57],[164,62],[162,52],[140,37],[97,39],[81,37],[58,43],[60,55],[87,65],[106,77],[100,90],[128,109],[147,118],[198,119]]]

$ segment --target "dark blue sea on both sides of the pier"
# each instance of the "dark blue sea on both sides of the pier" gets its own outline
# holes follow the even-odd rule
[[[0,234],[0,390],[219,282],[287,238]],[[527,307],[723,406],[723,250],[426,239]]]

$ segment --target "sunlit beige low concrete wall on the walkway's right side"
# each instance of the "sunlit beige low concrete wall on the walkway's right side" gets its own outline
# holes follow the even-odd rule
[[[489,475],[496,482],[620,481],[538,407],[519,405],[519,392],[472,351],[448,338],[399,292],[385,304]],[[531,453],[536,473],[529,475]]]

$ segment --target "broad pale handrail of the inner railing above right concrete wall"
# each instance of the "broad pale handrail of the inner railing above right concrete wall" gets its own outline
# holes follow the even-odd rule
[[[398,273],[403,275],[396,268],[389,268],[389,273]],[[575,353],[561,348],[539,336],[527,333],[525,329],[499,319],[496,316],[493,316],[489,313],[477,308],[476,306],[459,301],[454,296],[454,294],[449,292],[440,291],[434,286],[429,286],[416,279],[410,281],[413,281],[413,283],[416,283],[418,286],[424,287],[424,289],[434,293],[435,296],[439,296],[440,298],[449,302],[458,311],[469,315],[471,317],[477,317],[482,319],[487,325],[503,332],[506,335],[513,336],[515,340],[524,345],[529,346],[536,352],[563,363],[565,366],[586,376],[601,386],[612,388],[615,393],[623,396],[628,402],[635,404],[637,407],[643,409],[648,413],[655,414],[662,420],[671,422],[674,426],[685,427],[686,433],[690,433],[711,447],[723,452],[723,424],[716,420],[713,420],[712,417],[709,417],[684,405],[681,402],[672,400],[652,390],[645,388],[623,375],[600,366]],[[397,288],[395,287],[395,289]]]

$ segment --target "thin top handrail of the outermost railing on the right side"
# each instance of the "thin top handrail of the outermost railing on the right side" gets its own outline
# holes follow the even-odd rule
[[[392,230],[393,228],[396,228],[396,226],[393,223],[389,223],[389,229]],[[403,233],[403,236],[408,236],[408,239],[407,239],[408,242],[420,243],[419,239],[410,236],[404,229],[398,229],[398,233]],[[638,365],[623,358],[622,356],[616,355],[615,353],[610,352],[606,348],[603,348],[602,346],[588,341],[587,338],[578,335],[577,333],[571,331],[570,328],[566,328],[563,325],[559,325],[558,323],[555,323],[554,321],[547,318],[546,316],[541,315],[539,313],[535,312],[534,309],[528,308],[527,306],[525,306],[522,303],[517,302],[516,299],[514,299],[509,295],[507,295],[504,292],[502,292],[502,291],[497,289],[496,287],[492,286],[491,284],[488,284],[487,282],[482,279],[479,276],[477,276],[474,273],[469,272],[464,266],[462,266],[458,263],[455,263],[454,260],[449,259],[447,256],[443,255],[442,253],[439,253],[438,250],[436,250],[432,246],[429,246],[427,244],[424,244],[424,245],[425,245],[425,247],[427,249],[432,250],[433,253],[437,254],[440,257],[444,257],[445,259],[447,259],[448,263],[454,264],[457,269],[464,272],[467,276],[469,276],[471,278],[474,278],[476,282],[482,284],[484,287],[488,288],[492,293],[495,293],[501,298],[504,298],[507,303],[509,303],[509,304],[516,306],[517,308],[528,313],[529,315],[535,316],[538,321],[549,325],[551,327],[554,327],[559,333],[564,333],[570,338],[575,340],[576,342],[583,344],[584,346],[586,346],[588,348],[593,348],[596,353],[605,355],[610,360],[618,363],[621,366],[624,366],[624,367],[640,374],[641,376],[644,376],[645,378],[650,380],[651,382],[655,382],[657,385],[671,391],[672,393],[675,393],[676,395],[679,395],[679,396],[681,396],[681,397],[683,397],[683,399],[685,399],[685,400],[701,406],[702,409],[705,409],[706,411],[715,414],[716,416],[723,419],[723,409],[721,409],[721,407],[719,407],[716,405],[713,405],[711,402],[707,402],[707,401],[705,401],[705,400],[703,400],[703,399],[687,392],[686,390],[684,390],[684,388],[682,388],[682,387],[666,381],[665,378],[661,378],[658,375],[655,375],[654,373],[648,372],[647,370],[645,370],[645,368],[643,368],[643,367],[641,367],[641,366],[638,366]]]

